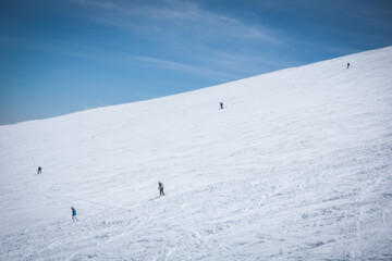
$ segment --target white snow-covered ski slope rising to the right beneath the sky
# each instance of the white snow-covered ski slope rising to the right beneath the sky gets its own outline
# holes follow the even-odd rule
[[[392,260],[392,48],[1,126],[0,166],[0,260]]]

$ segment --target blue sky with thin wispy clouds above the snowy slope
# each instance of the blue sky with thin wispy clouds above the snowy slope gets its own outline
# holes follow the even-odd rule
[[[388,47],[391,24],[389,0],[1,1],[0,124]]]

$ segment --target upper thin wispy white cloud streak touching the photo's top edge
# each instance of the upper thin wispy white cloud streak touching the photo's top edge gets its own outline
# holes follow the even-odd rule
[[[176,34],[192,32],[200,37],[232,37],[283,44],[261,26],[247,25],[238,18],[206,11],[198,4],[187,1],[162,1],[164,4],[157,4],[154,1],[130,3],[73,0],[73,2],[95,8],[95,11],[105,10],[105,13],[88,10],[88,13],[81,14],[84,18],[124,29],[146,33],[160,29],[168,33],[168,29],[172,29],[177,32]],[[137,24],[134,23],[136,20]]]

